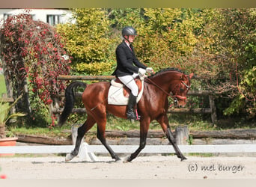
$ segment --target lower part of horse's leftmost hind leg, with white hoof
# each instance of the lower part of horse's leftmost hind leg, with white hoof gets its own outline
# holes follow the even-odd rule
[[[84,138],[85,133],[88,132],[88,130],[91,129],[92,126],[94,126],[94,123],[95,123],[94,118],[88,115],[88,118],[85,121],[85,123],[82,126],[80,126],[79,129],[77,130],[76,147],[71,153],[67,154],[65,161],[70,161],[75,156],[78,155],[82,138]]]

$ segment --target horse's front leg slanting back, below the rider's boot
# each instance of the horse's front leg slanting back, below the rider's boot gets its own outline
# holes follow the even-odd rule
[[[149,128],[149,124],[150,124],[150,121],[141,120],[139,147],[137,150],[135,150],[134,153],[132,153],[130,156],[128,156],[126,159],[124,159],[124,162],[131,162],[133,159],[135,159],[138,156],[138,154],[141,152],[141,150],[143,150],[144,147],[146,146],[147,131]]]

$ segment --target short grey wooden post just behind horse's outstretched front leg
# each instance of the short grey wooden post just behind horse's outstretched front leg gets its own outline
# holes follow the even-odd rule
[[[188,126],[177,126],[175,129],[175,140],[178,145],[189,144],[189,128]]]

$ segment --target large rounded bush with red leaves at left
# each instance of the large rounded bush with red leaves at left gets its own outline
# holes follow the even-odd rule
[[[67,75],[70,71],[70,59],[55,28],[32,20],[28,13],[10,16],[0,30],[0,46],[13,97],[25,95],[18,109],[29,114],[30,102],[37,102],[35,107],[39,108],[37,98],[46,106],[52,104],[52,99],[65,88],[58,75]]]

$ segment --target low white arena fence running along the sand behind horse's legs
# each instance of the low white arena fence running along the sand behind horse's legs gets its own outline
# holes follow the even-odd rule
[[[111,145],[115,153],[133,153],[138,145]],[[179,145],[182,153],[256,153],[256,144]],[[71,153],[74,145],[3,146],[0,153]],[[79,158],[97,161],[94,153],[109,153],[103,145],[82,143]],[[175,153],[171,145],[146,145],[141,153]]]

